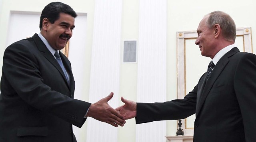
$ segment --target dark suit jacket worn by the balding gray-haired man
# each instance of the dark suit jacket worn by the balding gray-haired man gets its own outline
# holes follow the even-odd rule
[[[194,142],[256,142],[256,55],[235,47],[181,100],[137,103],[136,124],[196,113]]]

